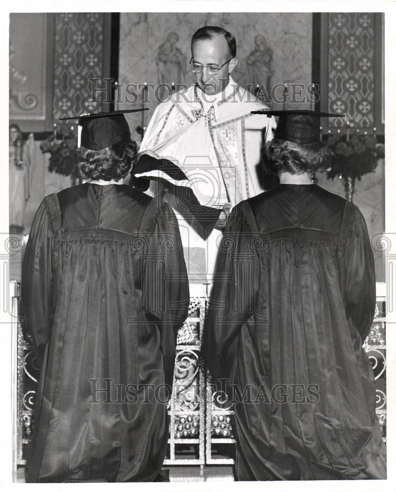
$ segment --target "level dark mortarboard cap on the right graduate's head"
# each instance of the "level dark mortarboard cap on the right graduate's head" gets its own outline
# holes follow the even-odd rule
[[[296,144],[311,144],[320,141],[320,118],[343,117],[345,115],[324,113],[321,111],[289,110],[289,111],[252,111],[253,115],[265,114],[279,116],[274,138],[295,142]]]

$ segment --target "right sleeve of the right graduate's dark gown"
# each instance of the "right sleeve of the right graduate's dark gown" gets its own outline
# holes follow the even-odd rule
[[[345,249],[346,313],[362,340],[367,337],[375,310],[374,258],[367,226],[360,210],[354,216]]]

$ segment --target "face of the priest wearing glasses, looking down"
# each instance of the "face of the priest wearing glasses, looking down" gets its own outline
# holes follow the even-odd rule
[[[223,36],[213,39],[199,40],[192,47],[193,62],[201,65],[213,64],[221,66],[231,58],[227,41]],[[199,87],[205,94],[212,95],[222,92],[229,81],[230,73],[235,68],[237,60],[233,58],[226,63],[215,75],[209,72],[208,67],[202,67],[200,73],[195,73]]]

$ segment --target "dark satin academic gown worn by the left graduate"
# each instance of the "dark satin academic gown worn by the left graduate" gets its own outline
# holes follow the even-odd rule
[[[22,297],[42,365],[28,482],[154,480],[189,304],[171,209],[127,185],[47,196]]]

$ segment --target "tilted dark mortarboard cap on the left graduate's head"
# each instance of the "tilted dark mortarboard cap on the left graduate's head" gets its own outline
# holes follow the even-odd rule
[[[124,113],[135,113],[137,111],[146,111],[147,109],[87,114],[71,118],[60,118],[60,120],[78,120],[78,125],[81,126],[80,145],[91,151],[100,151],[131,136]]]

